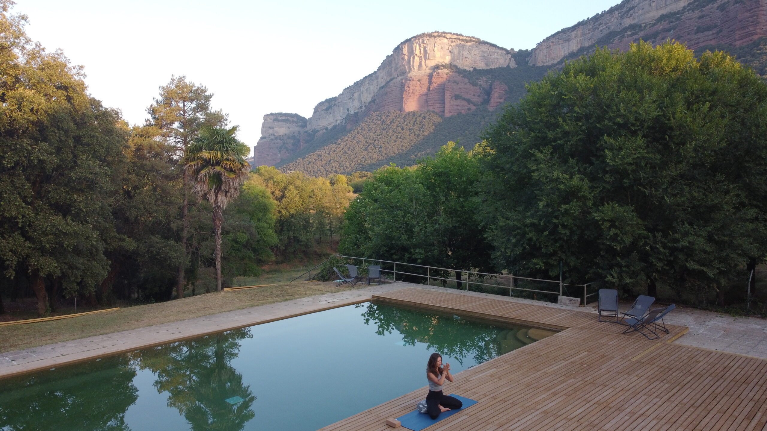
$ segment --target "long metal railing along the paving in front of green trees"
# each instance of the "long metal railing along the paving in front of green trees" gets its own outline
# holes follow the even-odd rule
[[[390,263],[390,264],[393,264],[393,268],[392,269],[381,268],[381,270],[380,270],[381,272],[390,272],[392,274],[393,281],[397,281],[397,274],[400,274],[400,275],[410,275],[410,276],[426,278],[426,285],[429,285],[432,280],[456,281],[456,286],[459,286],[460,283],[466,283],[466,290],[467,291],[469,290],[469,284],[489,286],[489,287],[492,287],[492,288],[509,288],[509,296],[514,296],[514,291],[515,290],[530,291],[530,292],[543,293],[543,294],[558,294],[558,295],[562,296],[565,293],[565,286],[578,286],[578,287],[582,287],[583,288],[583,293],[584,293],[583,302],[581,303],[581,307],[585,306],[588,297],[593,296],[593,295],[596,294],[596,293],[587,294],[587,292],[586,292],[587,286],[593,284],[594,281],[591,281],[591,283],[587,283],[585,285],[565,285],[564,283],[562,283],[561,280],[557,281],[557,280],[545,280],[545,279],[542,279],[542,278],[520,277],[518,275],[513,275],[513,274],[491,274],[491,273],[488,273],[488,272],[468,271],[466,269],[440,268],[440,267],[437,267],[437,266],[428,266],[428,265],[418,265],[418,264],[414,264],[414,263],[386,261],[386,260],[383,260],[383,259],[358,258],[356,256],[344,256],[344,255],[335,255],[335,256],[338,257],[338,258],[348,258],[348,259],[361,260],[363,267],[367,266],[365,264],[368,261],[369,262],[380,262],[380,263]],[[328,262],[328,261],[325,261],[325,262]],[[397,271],[397,265],[398,264],[400,265],[400,268],[402,268],[402,265],[415,266],[415,267],[419,267],[419,268],[426,268],[426,275],[414,274],[413,272],[406,272],[406,271],[401,271],[401,270]],[[443,278],[443,277],[439,277],[437,275],[432,275],[431,274],[432,270],[455,272],[456,275],[461,274],[462,278],[463,278],[463,274],[466,274],[466,281],[463,281],[463,279],[459,280],[458,278]],[[482,282],[476,281],[476,280],[475,281],[471,281],[470,280],[470,275],[479,275],[480,276],[479,278],[482,278],[482,276],[489,276],[489,277],[495,277],[495,278],[508,277],[509,278],[509,285],[491,285],[491,284],[482,283]],[[515,279],[516,280],[543,281],[543,282],[548,282],[548,283],[555,283],[555,284],[558,285],[558,291],[543,291],[543,290],[539,290],[539,289],[521,288],[521,287],[518,287],[518,285],[515,283]]]

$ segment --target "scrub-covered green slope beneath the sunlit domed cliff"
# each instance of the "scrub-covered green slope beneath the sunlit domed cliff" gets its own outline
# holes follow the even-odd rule
[[[525,60],[527,51],[516,58]],[[525,95],[525,84],[541,79],[548,67],[522,64],[518,67],[497,67],[467,71],[443,66],[460,74],[476,87],[487,82],[500,82],[508,90],[505,102],[515,104]],[[460,97],[456,94],[456,98]],[[489,97],[489,94],[486,94]],[[440,146],[457,142],[467,149],[482,139],[482,130],[498,117],[499,110],[489,110],[485,104],[469,100],[473,109],[463,114],[441,117],[426,111],[378,112],[365,117],[351,131],[345,124],[331,127],[309,143],[288,163],[277,167],[285,172],[301,171],[312,176],[332,173],[351,174],[358,170],[374,170],[395,163],[410,166],[423,156],[433,156]]]

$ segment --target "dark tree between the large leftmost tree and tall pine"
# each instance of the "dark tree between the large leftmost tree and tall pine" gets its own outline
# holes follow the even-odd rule
[[[102,303],[110,291],[121,298],[135,292],[141,300],[170,299],[176,268],[188,260],[174,225],[183,200],[175,148],[162,136],[154,126],[130,130],[113,214],[117,232],[135,247],[110,253],[110,271],[97,292]]]

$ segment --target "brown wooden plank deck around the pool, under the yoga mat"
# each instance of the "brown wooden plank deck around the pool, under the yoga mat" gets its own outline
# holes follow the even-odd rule
[[[767,360],[619,334],[582,311],[403,289],[376,301],[568,328],[456,375],[446,393],[475,406],[436,430],[767,430]],[[545,308],[545,309],[544,309]],[[603,326],[607,325],[607,326]],[[613,328],[617,327],[617,328]],[[388,417],[413,410],[426,387],[324,427],[388,431]]]

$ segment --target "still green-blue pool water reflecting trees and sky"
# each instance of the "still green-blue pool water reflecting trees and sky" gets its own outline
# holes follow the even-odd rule
[[[351,305],[0,380],[0,429],[312,431],[551,334]]]

